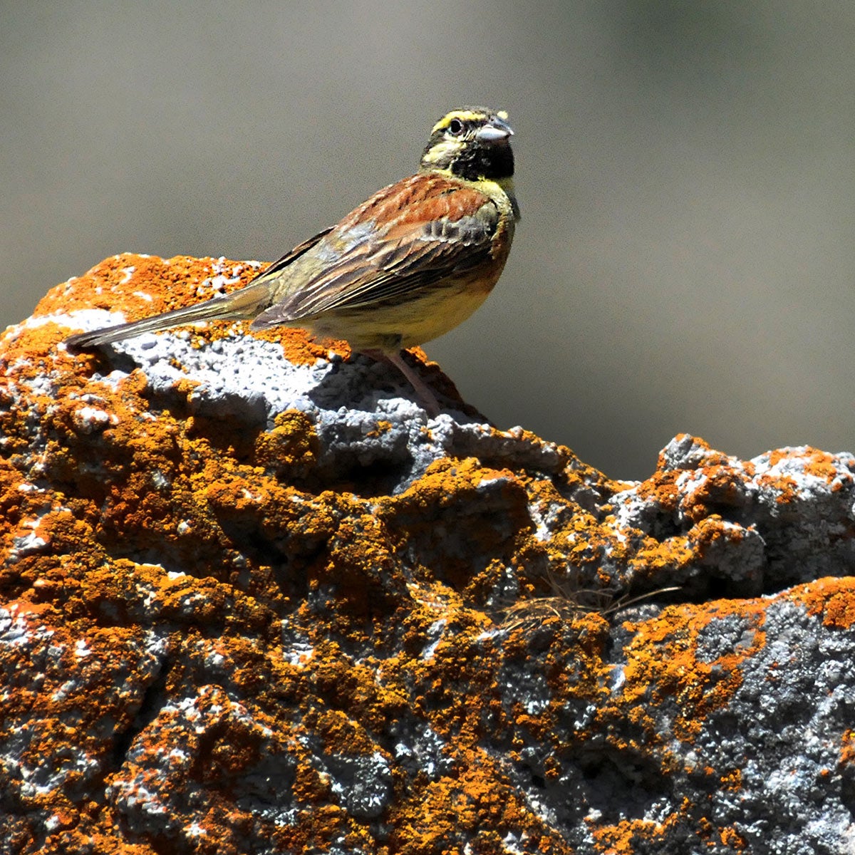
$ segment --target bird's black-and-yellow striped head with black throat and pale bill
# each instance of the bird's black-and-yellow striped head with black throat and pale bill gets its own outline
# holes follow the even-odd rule
[[[463,107],[434,126],[422,155],[422,169],[441,170],[470,181],[502,180],[514,174],[513,131],[504,110]]]

